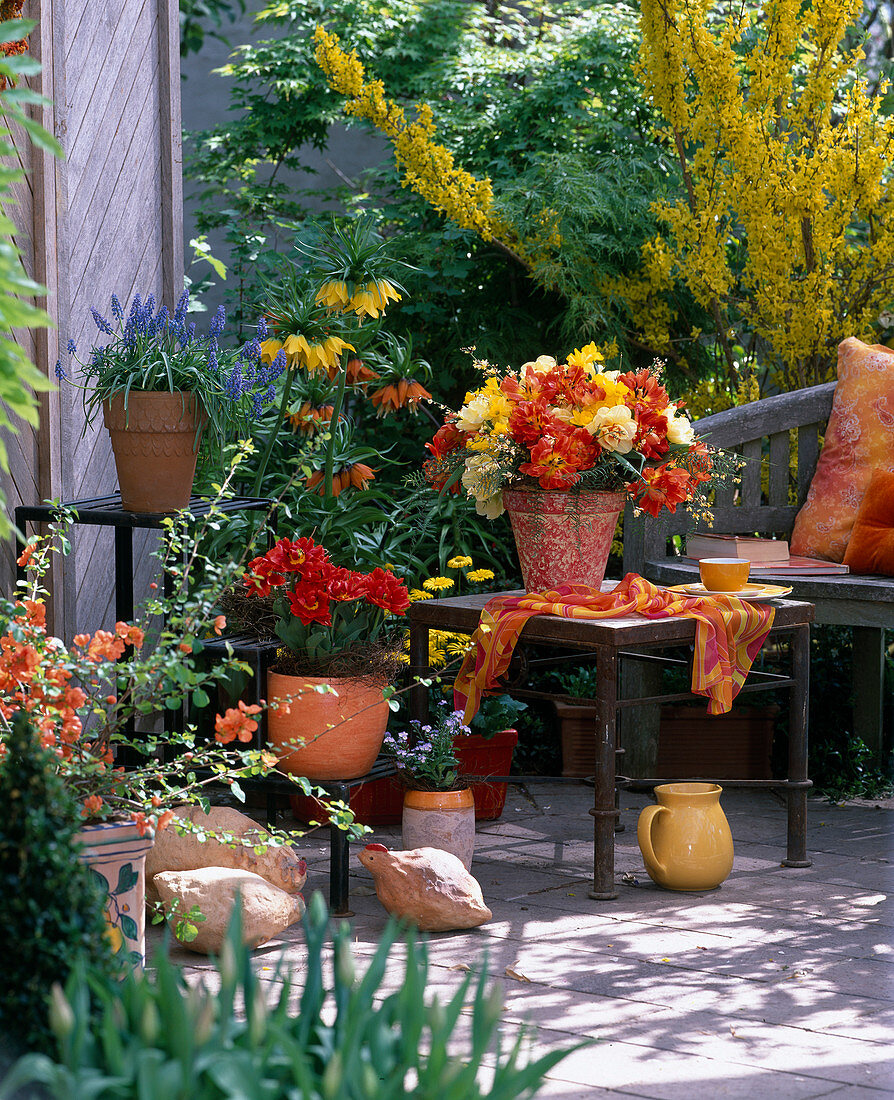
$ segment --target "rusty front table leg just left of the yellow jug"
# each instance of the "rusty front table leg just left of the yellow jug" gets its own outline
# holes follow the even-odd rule
[[[615,888],[615,749],[618,727],[618,654],[614,649],[596,650],[596,729],[594,737],[596,771],[593,809],[593,889],[589,897],[610,901]]]

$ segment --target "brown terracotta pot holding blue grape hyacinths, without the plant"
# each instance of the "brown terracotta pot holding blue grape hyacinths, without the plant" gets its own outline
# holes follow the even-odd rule
[[[207,420],[195,394],[131,391],[102,403],[125,512],[177,512],[189,504]]]

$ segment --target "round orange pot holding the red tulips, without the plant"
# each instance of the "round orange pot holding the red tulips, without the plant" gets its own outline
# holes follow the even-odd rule
[[[318,686],[332,691],[314,691]],[[267,737],[279,749],[279,767],[320,783],[365,776],[388,724],[385,688],[368,680],[268,672]],[[295,698],[278,705],[288,695]],[[303,747],[295,748],[295,743]]]

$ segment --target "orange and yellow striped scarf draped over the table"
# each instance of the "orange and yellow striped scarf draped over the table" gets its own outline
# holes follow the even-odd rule
[[[710,600],[659,588],[637,573],[611,592],[586,584],[563,584],[552,592],[495,596],[482,609],[473,646],[453,685],[453,705],[471,722],[482,693],[497,685],[509,668],[522,627],[532,615],[562,618],[647,618],[685,615],[696,620],[692,690],[707,695],[709,714],[726,714],[746,681],[773,625],[775,609],[736,596]]]

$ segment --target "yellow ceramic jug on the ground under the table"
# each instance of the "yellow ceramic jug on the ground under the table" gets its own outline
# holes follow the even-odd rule
[[[732,834],[717,783],[663,783],[637,840],[649,878],[669,890],[711,890],[732,870]]]

